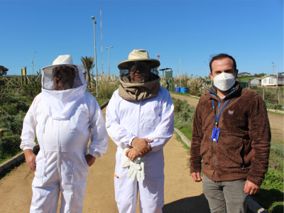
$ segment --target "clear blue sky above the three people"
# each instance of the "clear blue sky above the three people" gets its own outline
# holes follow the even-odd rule
[[[151,58],[160,53],[160,68],[177,74],[207,75],[209,56],[236,55],[239,72],[283,72],[283,1],[3,1],[0,0],[0,65],[8,75],[21,68],[34,72],[58,55],[94,56],[102,72],[99,7],[102,6],[103,68],[119,74],[117,62],[133,49]],[[180,69],[179,69],[180,70]],[[274,70],[274,73],[276,69]]]

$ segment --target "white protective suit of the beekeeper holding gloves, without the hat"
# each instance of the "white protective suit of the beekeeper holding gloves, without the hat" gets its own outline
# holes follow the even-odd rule
[[[141,101],[126,101],[117,89],[107,107],[107,132],[117,144],[114,178],[115,199],[121,213],[136,212],[138,190],[140,212],[162,212],[164,204],[163,146],[173,135],[173,101],[160,87],[158,96]],[[137,182],[127,177],[129,168],[121,168],[121,152],[133,138],[153,139],[152,151],[143,156],[145,179]]]

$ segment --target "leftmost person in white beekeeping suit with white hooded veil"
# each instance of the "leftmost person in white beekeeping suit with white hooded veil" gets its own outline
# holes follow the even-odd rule
[[[35,171],[30,212],[57,212],[60,191],[60,212],[82,212],[89,166],[107,151],[104,116],[86,91],[83,70],[70,55],[42,69],[42,92],[23,120],[21,135],[26,162]]]

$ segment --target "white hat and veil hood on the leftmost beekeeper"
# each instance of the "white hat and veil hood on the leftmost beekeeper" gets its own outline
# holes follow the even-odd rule
[[[53,84],[53,69],[59,66],[72,67],[75,70],[75,80],[73,87],[66,90],[55,90]],[[70,55],[59,55],[53,61],[53,65],[43,67],[41,71],[43,76],[42,93],[45,100],[45,108],[48,116],[56,120],[67,119],[76,102],[82,97],[87,88],[87,82],[84,80],[84,68],[80,65],[74,65]]]

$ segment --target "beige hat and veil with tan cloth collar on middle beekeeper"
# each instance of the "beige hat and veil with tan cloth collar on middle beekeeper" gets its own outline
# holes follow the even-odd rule
[[[140,82],[131,82],[130,70],[135,71],[139,66],[147,66],[147,76],[141,73]],[[160,91],[160,77],[158,67],[160,62],[149,58],[146,50],[133,50],[129,59],[119,63],[119,96],[129,101],[149,99],[158,95]]]

